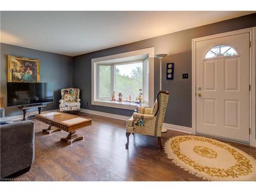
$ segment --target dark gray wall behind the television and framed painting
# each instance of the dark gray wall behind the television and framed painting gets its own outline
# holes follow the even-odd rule
[[[1,43],[1,97],[4,97],[6,116],[23,114],[16,106],[7,107],[7,55],[37,58],[41,60],[40,82],[53,82],[54,84],[54,102],[49,103],[42,111],[58,109],[60,89],[72,87],[73,84],[72,57]]]

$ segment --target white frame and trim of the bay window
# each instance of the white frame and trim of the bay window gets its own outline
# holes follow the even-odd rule
[[[132,56],[138,56],[138,55],[148,55],[148,101],[145,101],[143,103],[144,106],[147,107],[152,107],[154,104],[154,47],[151,48],[146,48],[142,50],[137,50],[137,51],[131,51],[131,52],[126,52],[126,53],[121,53],[121,54],[116,54],[116,55],[110,55],[110,56],[105,56],[105,57],[99,57],[99,58],[93,58],[91,60],[92,64],[92,97],[91,97],[91,104],[92,105],[100,105],[100,106],[109,106],[112,108],[120,108],[120,109],[129,109],[129,110],[135,110],[136,106],[138,105],[137,103],[133,102],[113,102],[110,101],[111,98],[99,98],[99,66],[111,66],[111,93],[113,93],[114,88],[115,88],[115,67],[118,65],[126,65],[126,64],[132,64],[136,62],[142,62],[142,70],[143,70],[143,92],[144,92],[144,82],[145,82],[145,74],[144,74],[144,65],[145,65],[145,60],[147,59],[146,57],[141,58],[141,59],[135,59],[135,60],[127,60],[127,61],[121,61],[121,62],[105,62],[107,60],[112,60],[112,59],[122,59],[126,57],[132,57]],[[138,91],[139,93],[139,91]],[[116,98],[118,98],[118,95],[116,93]],[[125,98],[123,98],[123,101],[125,101]]]

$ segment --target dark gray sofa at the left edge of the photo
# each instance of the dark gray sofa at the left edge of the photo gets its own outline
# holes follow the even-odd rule
[[[1,125],[0,136],[0,178],[28,172],[34,163],[34,122],[28,120]]]

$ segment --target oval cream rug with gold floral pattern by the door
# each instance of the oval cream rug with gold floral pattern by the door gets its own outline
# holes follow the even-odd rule
[[[255,181],[256,160],[229,144],[200,136],[166,141],[169,159],[189,173],[209,181]]]

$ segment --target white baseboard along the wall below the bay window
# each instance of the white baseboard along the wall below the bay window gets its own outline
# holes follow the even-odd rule
[[[93,111],[93,110],[87,110],[87,109],[81,109],[80,111],[84,112],[84,113],[99,115],[99,116],[103,116],[103,117],[109,117],[109,118],[113,118],[113,119],[120,119],[120,120],[124,120],[124,121],[127,121],[130,118],[128,116],[116,115],[116,114],[112,114],[112,113],[105,113],[105,112],[99,112],[99,111]],[[173,131],[189,133],[189,134],[192,133],[191,127],[174,125],[174,124],[169,124],[169,123],[163,123],[163,127],[166,128],[167,130],[173,130]]]

